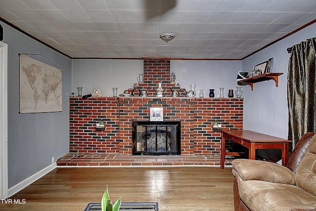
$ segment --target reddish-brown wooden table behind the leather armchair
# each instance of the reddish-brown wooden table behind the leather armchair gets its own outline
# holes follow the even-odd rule
[[[224,169],[225,155],[235,155],[236,153],[226,152],[225,139],[234,141],[249,149],[248,158],[256,159],[256,149],[282,149],[282,166],[287,165],[288,161],[288,143],[286,139],[280,139],[248,130],[229,130],[223,129],[221,144],[221,169]]]

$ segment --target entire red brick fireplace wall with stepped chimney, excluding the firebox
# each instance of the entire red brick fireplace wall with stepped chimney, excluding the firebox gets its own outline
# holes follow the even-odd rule
[[[70,97],[70,152],[132,154],[132,121],[149,121],[151,107],[163,108],[164,121],[181,121],[182,155],[220,155],[215,120],[224,128],[242,129],[243,98],[158,98],[158,82],[167,88],[166,96],[177,88],[170,84],[169,58],[144,58],[144,83],[137,90],[148,90],[149,97]],[[101,119],[104,131],[95,127]]]

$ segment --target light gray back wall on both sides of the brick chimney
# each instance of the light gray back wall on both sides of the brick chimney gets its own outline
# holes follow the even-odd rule
[[[171,72],[176,74],[176,83],[189,91],[190,84],[197,84],[204,89],[207,97],[209,90],[215,89],[219,96],[219,87],[236,89],[237,72],[241,68],[241,61],[194,61],[171,60]],[[83,87],[83,94],[92,92],[98,87],[102,96],[112,96],[112,87],[118,87],[118,93],[133,87],[137,83],[136,77],[143,73],[143,60],[115,60],[115,59],[80,59],[73,60],[73,91],[78,95],[77,87]]]

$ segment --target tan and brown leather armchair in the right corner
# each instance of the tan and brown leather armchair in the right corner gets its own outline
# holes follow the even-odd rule
[[[265,161],[234,160],[235,211],[316,211],[314,135],[307,133],[298,141],[286,167]]]

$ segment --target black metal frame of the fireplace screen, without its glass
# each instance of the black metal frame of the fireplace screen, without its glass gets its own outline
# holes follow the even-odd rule
[[[140,145],[137,146],[137,127],[138,126],[146,126],[146,131],[142,132],[146,138],[144,139],[144,145],[143,147],[140,147]],[[156,131],[151,130],[150,132],[147,131],[149,127],[155,127]],[[165,127],[165,130],[160,131],[159,128]],[[173,136],[176,136],[176,140],[171,142],[176,144],[176,149],[173,149],[173,147],[170,146],[170,149],[168,149],[168,139],[170,138],[170,131],[168,131],[168,128],[173,128],[176,131],[173,131]],[[162,133],[161,133],[162,132]],[[154,149],[149,150],[147,147],[148,144],[148,137],[149,134],[156,133],[155,139],[156,139],[156,146]],[[158,134],[161,135],[165,133],[165,149],[159,149],[157,147],[158,144]],[[163,138],[163,137],[162,137]],[[181,121],[133,121],[132,122],[132,155],[181,155]]]

